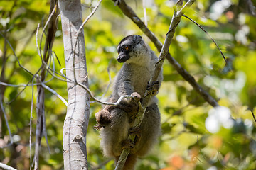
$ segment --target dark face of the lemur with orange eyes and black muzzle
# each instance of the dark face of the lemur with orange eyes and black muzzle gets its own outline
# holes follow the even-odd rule
[[[139,35],[129,35],[122,39],[117,47],[118,62],[132,62],[136,60],[135,57],[138,55],[138,47],[143,42],[142,37]]]

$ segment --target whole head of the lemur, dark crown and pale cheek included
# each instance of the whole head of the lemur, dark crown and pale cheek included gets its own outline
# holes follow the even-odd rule
[[[117,46],[118,62],[139,64],[150,60],[149,47],[139,35],[129,35]]]

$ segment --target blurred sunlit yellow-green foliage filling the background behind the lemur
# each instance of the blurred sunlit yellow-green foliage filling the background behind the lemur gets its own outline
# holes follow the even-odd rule
[[[94,6],[96,2],[84,2],[84,18],[91,12],[86,6]],[[248,8],[240,7],[241,1],[230,1],[220,13],[214,11],[214,6],[218,3],[220,1],[196,1],[186,16],[210,33],[223,50],[228,62],[225,64],[208,35],[187,18],[182,18],[178,25],[169,52],[193,75],[203,89],[218,100],[220,106],[225,106],[222,108],[225,113],[220,115],[219,113],[224,110],[211,108],[171,67],[171,64],[165,62],[164,82],[158,94],[162,135],[151,154],[139,159],[137,169],[250,170],[256,167],[256,128],[252,113],[247,110],[250,108],[256,112],[256,18]],[[127,1],[127,4],[144,19],[141,1]],[[174,12],[172,6],[172,1],[157,0],[146,7],[148,27],[161,42],[164,42],[169,29]],[[18,66],[14,52],[21,65],[36,74],[41,67],[35,43],[36,28],[40,24],[40,40],[42,24],[46,23],[48,13],[49,1],[1,1],[0,68],[5,68],[1,81],[18,85],[31,83],[31,74]],[[140,34],[156,51],[153,43],[149,42],[142,31],[110,0],[102,1],[101,8],[85,24],[84,33],[90,90],[102,100],[110,95],[107,86],[121,67],[115,60],[119,40],[131,33]],[[54,65],[58,73],[65,67],[61,34],[58,23],[53,45],[55,55],[50,62],[50,67]],[[5,38],[10,42],[14,52]],[[44,38],[43,36],[41,49]],[[159,55],[159,52],[156,54]],[[51,75],[47,74],[46,80],[50,79]],[[46,85],[67,98],[65,82],[54,78]],[[4,147],[9,142],[9,133],[1,113],[0,147],[4,148],[0,149],[0,161],[18,169],[29,169],[29,120],[33,100],[32,142],[35,142],[36,86],[27,86],[25,89],[13,86],[0,87],[11,132],[16,141],[15,145]],[[59,98],[50,91],[45,91],[46,128],[51,153],[48,152],[46,140],[43,138],[41,169],[63,169],[62,137],[66,108]],[[101,108],[99,103],[90,104],[87,131],[89,169],[107,160],[100,149],[99,132],[93,129],[96,123],[95,113]],[[223,121],[221,116],[228,113],[228,119]],[[34,152],[33,145],[31,152]],[[113,168],[114,161],[111,160],[100,169]]]

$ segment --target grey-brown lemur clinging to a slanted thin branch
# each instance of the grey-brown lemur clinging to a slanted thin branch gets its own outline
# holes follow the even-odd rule
[[[132,95],[143,97],[154,72],[158,58],[139,35],[129,35],[117,47],[118,62],[124,62],[114,79],[112,95],[108,101],[116,102],[120,96]],[[116,163],[124,147],[131,147],[131,152],[124,164],[124,169],[134,169],[137,157],[144,156],[152,148],[160,134],[160,113],[156,95],[163,77],[159,75],[154,84],[156,90],[151,97],[144,119],[139,129],[132,128],[134,115],[138,111],[136,100],[124,100],[119,106],[106,106],[96,113],[97,128],[102,138],[101,147],[108,157],[114,157]],[[137,135],[137,142],[127,140],[129,133]]]

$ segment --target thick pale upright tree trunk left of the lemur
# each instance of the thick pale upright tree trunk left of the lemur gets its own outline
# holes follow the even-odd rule
[[[88,86],[80,0],[60,0],[66,76],[68,77],[68,111],[63,127],[64,169],[87,169],[86,132],[89,121],[89,95],[78,84]]]

